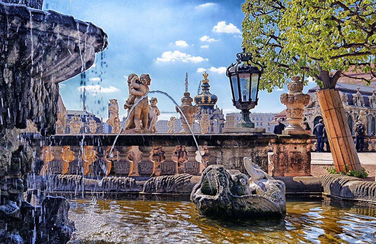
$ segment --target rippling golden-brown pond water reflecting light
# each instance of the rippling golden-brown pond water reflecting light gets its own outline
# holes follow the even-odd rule
[[[376,243],[376,209],[338,200],[288,198],[277,220],[199,216],[188,199],[70,200],[68,243]]]

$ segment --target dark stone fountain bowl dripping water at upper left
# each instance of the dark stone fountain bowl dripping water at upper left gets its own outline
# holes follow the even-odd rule
[[[30,21],[32,20],[32,21]],[[92,23],[58,12],[0,3],[0,37],[14,62],[32,78],[55,83],[90,68],[107,35]]]

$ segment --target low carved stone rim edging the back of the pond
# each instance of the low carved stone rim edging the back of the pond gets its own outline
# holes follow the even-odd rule
[[[201,176],[189,176],[188,181],[185,181],[184,187],[171,187],[176,184],[170,181],[174,176],[164,176],[164,181],[168,179],[170,183],[169,189],[159,190],[160,192],[144,192],[142,189],[146,182],[149,182],[152,177],[137,176],[105,176],[97,177],[96,179],[82,178],[79,175],[64,175],[61,177],[60,183],[52,177],[58,176],[29,176],[29,186],[34,186],[41,190],[47,189],[47,182],[49,182],[49,192],[56,196],[64,196],[68,198],[75,198],[77,196],[98,198],[113,198],[113,199],[129,199],[134,197],[139,199],[144,197],[165,197],[172,198],[186,198],[191,193],[193,186],[199,181]],[[68,179],[71,178],[71,179]],[[129,179],[134,181],[133,188],[124,186],[124,180]],[[344,176],[344,175],[321,175],[315,176],[295,176],[295,177],[274,177],[274,179],[285,182],[287,196],[327,196],[335,199],[376,204],[376,182],[367,182],[362,179]],[[107,182],[105,187],[99,187],[99,182]],[[117,182],[119,180],[119,182]],[[116,182],[115,182],[116,181]],[[122,182],[121,182],[122,181]],[[172,183],[172,184],[171,184]],[[65,184],[67,187],[64,190],[58,185]],[[82,191],[82,186],[83,190]],[[120,187],[120,188],[119,188]],[[170,191],[170,192],[169,192]]]

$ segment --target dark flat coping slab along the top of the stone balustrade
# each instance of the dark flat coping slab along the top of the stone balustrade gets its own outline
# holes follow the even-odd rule
[[[40,134],[21,133],[20,137],[29,140],[32,146],[112,146],[117,134],[56,134],[44,137]],[[197,143],[201,146],[215,147],[255,147],[258,145],[268,145],[271,139],[276,139],[276,134],[271,133],[210,133],[194,134]],[[115,146],[196,146],[192,134],[175,133],[136,133],[120,134]]]

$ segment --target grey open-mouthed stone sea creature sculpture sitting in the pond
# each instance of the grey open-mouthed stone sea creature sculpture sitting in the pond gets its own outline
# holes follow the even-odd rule
[[[215,217],[281,217],[286,213],[285,183],[274,180],[244,157],[250,179],[239,170],[210,165],[191,193],[200,215]]]

